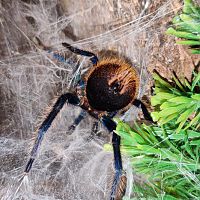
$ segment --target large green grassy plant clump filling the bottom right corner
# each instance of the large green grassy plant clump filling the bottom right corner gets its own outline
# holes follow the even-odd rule
[[[143,183],[134,182],[135,199],[199,199],[200,133],[170,125],[135,123],[134,128],[118,121],[122,153],[130,156]]]

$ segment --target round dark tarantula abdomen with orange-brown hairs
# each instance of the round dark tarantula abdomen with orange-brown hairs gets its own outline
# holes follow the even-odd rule
[[[86,96],[90,106],[99,111],[117,111],[135,99],[139,78],[125,62],[99,63],[88,75]]]

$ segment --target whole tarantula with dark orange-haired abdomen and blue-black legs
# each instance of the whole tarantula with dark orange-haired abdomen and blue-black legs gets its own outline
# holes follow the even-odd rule
[[[118,111],[128,110],[129,106],[135,104],[136,106],[141,105],[143,113],[146,113],[144,115],[147,119],[150,119],[144,104],[136,100],[139,88],[138,73],[131,64],[123,59],[106,58],[98,60],[97,56],[91,52],[72,47],[67,43],[62,43],[62,45],[75,54],[89,57],[93,67],[90,68],[86,76],[79,81],[75,92],[68,92],[57,99],[51,112],[39,127],[38,136],[31,151],[30,159],[26,165],[25,173],[29,173],[32,168],[44,134],[47,132],[64,104],[69,103],[80,106],[91,116],[100,120],[108,131],[112,133],[115,175],[111,188],[110,200],[119,200],[125,193],[126,175],[122,168],[120,137],[113,131],[116,129],[116,123],[112,118]],[[74,129],[83,118],[84,114],[81,113],[75,119],[72,129]]]

